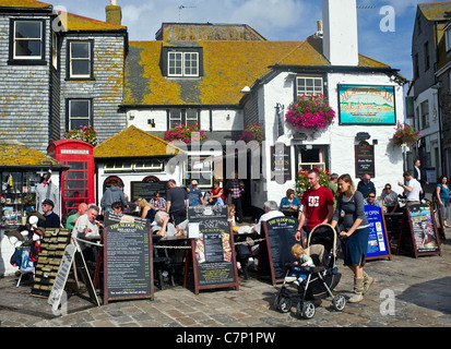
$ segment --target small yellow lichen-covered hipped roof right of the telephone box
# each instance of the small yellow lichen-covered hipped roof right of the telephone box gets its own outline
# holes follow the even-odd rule
[[[133,125],[94,148],[94,158],[174,156],[181,149]]]

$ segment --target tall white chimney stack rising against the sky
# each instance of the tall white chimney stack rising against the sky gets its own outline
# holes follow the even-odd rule
[[[323,0],[323,53],[332,65],[358,65],[356,0]]]

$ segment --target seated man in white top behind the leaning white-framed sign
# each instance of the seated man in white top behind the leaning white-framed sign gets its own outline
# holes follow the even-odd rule
[[[98,240],[100,238],[98,231],[100,224],[96,220],[99,210],[100,208],[98,208],[97,206],[90,205],[87,213],[76,219],[75,227],[73,227],[72,230],[72,243],[75,246],[80,246],[80,250],[82,251],[83,256],[86,261],[97,260],[97,248],[92,244],[79,241],[75,238],[87,241]]]

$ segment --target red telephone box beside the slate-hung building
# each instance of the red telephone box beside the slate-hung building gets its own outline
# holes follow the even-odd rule
[[[61,174],[61,215],[75,212],[81,203],[95,202],[93,148],[79,140],[60,140],[47,147],[49,156],[69,167]]]

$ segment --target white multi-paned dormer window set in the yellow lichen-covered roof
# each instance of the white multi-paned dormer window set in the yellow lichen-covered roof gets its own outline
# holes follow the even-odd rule
[[[198,48],[165,48],[163,71],[168,77],[202,75],[202,51]]]

